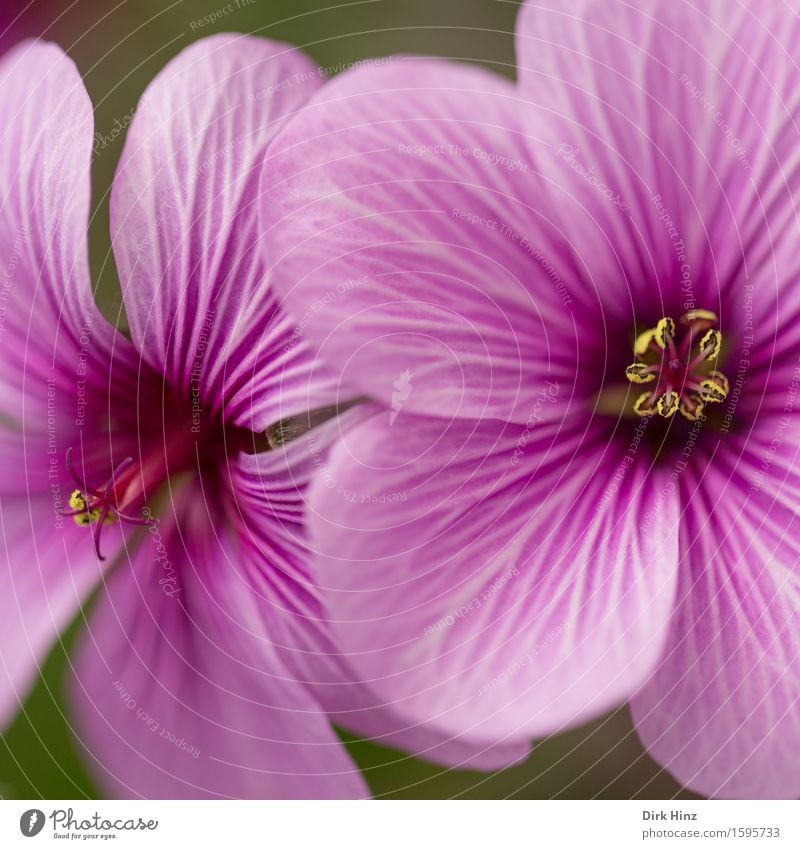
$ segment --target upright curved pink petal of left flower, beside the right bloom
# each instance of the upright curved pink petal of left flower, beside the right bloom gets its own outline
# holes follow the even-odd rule
[[[267,285],[256,241],[264,149],[321,83],[287,45],[203,39],[145,92],[112,190],[135,344],[176,389],[253,430],[335,397]]]

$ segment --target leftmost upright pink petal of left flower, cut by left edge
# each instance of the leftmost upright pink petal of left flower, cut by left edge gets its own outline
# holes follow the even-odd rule
[[[135,374],[92,296],[93,129],[56,45],[25,42],[0,60],[0,492],[49,490],[49,458],[61,462],[88,429],[76,420],[107,415],[109,385]]]

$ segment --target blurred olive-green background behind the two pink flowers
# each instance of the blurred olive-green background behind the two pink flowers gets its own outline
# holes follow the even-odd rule
[[[183,47],[235,30],[289,41],[319,65],[340,68],[371,56],[420,53],[478,62],[514,76],[517,0],[232,0],[215,25],[192,27],[227,0],[0,0],[0,49],[40,34],[75,60],[95,104],[96,129],[126,126],[147,83]],[[98,300],[113,321],[121,299],[108,238],[108,191],[124,133],[100,145],[94,164],[91,244]],[[76,623],[0,746],[0,798],[101,795],[89,780],[61,698]],[[529,760],[486,775],[442,770],[398,752],[345,738],[378,797],[691,798],[647,757],[626,708],[567,734],[538,741]]]

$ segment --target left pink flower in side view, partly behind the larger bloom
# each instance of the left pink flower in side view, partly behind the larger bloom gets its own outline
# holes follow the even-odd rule
[[[0,720],[100,584],[73,692],[118,795],[364,795],[331,719],[447,763],[525,752],[394,721],[321,621],[303,492],[337,422],[313,451],[266,434],[335,387],[255,249],[264,149],[321,83],[285,45],[224,35],[147,90],[111,195],[128,341],[93,300],[80,77],[38,42],[0,65]]]

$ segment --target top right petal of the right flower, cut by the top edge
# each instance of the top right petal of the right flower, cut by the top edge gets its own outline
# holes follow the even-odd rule
[[[776,285],[797,278],[798,38],[791,4],[769,0],[523,5],[538,164],[612,312],[694,301],[730,329],[746,283],[769,315]]]

